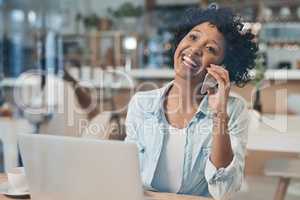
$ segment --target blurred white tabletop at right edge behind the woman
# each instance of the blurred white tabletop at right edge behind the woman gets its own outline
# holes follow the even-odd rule
[[[300,116],[263,115],[250,127],[248,150],[300,153]]]

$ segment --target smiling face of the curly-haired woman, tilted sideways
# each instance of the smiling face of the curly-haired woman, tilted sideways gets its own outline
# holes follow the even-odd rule
[[[175,76],[203,81],[210,64],[221,64],[225,54],[225,39],[209,22],[195,26],[178,44],[174,54]]]

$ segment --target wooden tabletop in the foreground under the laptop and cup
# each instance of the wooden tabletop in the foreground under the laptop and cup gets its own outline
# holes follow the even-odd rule
[[[0,174],[0,184],[7,181],[5,174]],[[146,191],[146,200],[212,200],[210,198],[198,197],[198,196],[188,196],[188,195],[177,195],[171,193],[160,193],[160,192],[150,192]],[[0,200],[12,200],[2,194],[0,194]]]

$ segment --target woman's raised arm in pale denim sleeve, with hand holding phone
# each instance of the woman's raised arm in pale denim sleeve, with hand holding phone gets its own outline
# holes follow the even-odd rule
[[[248,114],[245,103],[230,99],[230,120],[227,104],[230,82],[228,72],[218,66],[208,69],[218,81],[218,91],[209,94],[209,106],[213,111],[212,151],[205,167],[208,189],[214,199],[227,199],[239,190],[245,165],[248,131]]]

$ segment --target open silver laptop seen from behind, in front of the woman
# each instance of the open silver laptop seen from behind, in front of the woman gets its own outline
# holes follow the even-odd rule
[[[135,144],[21,134],[32,200],[142,200]]]

